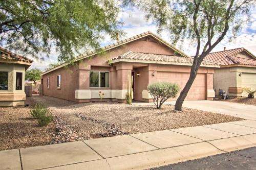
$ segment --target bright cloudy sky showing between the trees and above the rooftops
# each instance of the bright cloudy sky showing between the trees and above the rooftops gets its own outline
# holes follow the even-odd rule
[[[147,31],[152,31],[153,33],[157,34],[157,27],[151,22],[146,21],[144,18],[144,13],[138,9],[125,10],[119,14],[119,18],[124,23],[121,29],[125,33],[125,36],[123,36],[121,39],[129,38]],[[256,9],[252,11],[250,19],[250,24],[243,27],[236,40],[229,42],[227,38],[224,38],[211,52],[222,51],[224,47],[226,47],[226,50],[244,47],[252,54],[256,55]],[[170,42],[166,33],[162,33],[158,36],[160,36],[165,41]],[[114,41],[109,37],[105,37],[105,39],[101,42],[101,46],[105,46],[111,43],[114,43]],[[189,56],[195,55],[196,47],[190,45],[189,43],[184,43],[182,46],[176,47],[180,48],[180,50]],[[42,56],[38,57],[40,58]],[[58,54],[55,52],[55,50],[51,49],[49,58],[45,58],[45,61],[33,59],[34,62],[31,67],[44,70],[50,63],[57,62],[57,56]]]

